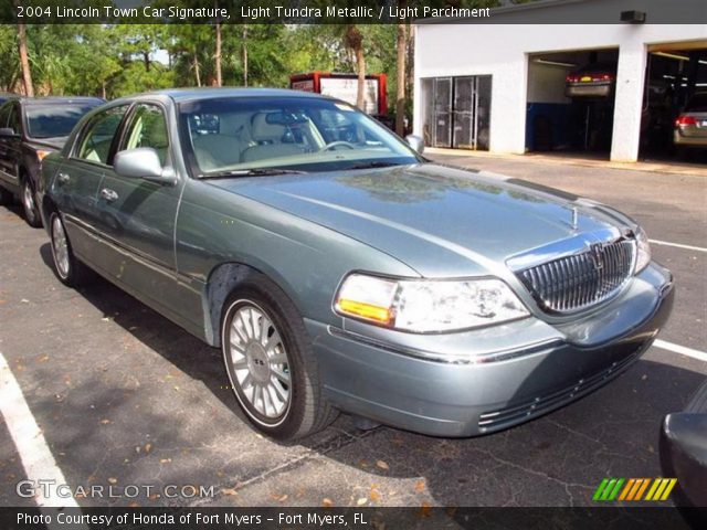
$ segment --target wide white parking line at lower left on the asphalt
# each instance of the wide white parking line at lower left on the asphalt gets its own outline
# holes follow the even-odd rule
[[[4,417],[20,455],[27,478],[32,480],[33,485],[36,485],[38,480],[52,480],[54,485],[66,484],[2,352],[0,352],[0,413]],[[76,508],[78,506],[73,497],[60,498],[55,494],[52,496],[51,492],[56,490],[55,487],[46,489],[50,491],[49,496],[44,496],[44,488],[36,487],[38,495],[34,500],[40,507]]]

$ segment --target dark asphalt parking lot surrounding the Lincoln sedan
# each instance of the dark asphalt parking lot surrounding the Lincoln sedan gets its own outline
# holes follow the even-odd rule
[[[591,506],[604,477],[661,476],[661,420],[707,375],[704,358],[671,350],[707,350],[707,179],[434,158],[587,195],[640,221],[662,242],[654,256],[677,280],[661,335],[667,349],[651,348],[579,402],[490,436],[365,432],[341,415],[309,439],[279,444],[239,412],[218,350],[101,278],[81,290],[64,287],[45,232],[30,229],[19,208],[0,206],[0,352],[76,502]],[[18,495],[32,457],[0,421],[0,506],[36,501]]]

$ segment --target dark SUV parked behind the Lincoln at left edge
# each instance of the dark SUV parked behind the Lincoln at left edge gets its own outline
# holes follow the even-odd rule
[[[24,219],[41,226],[34,190],[42,159],[61,149],[97,97],[14,97],[0,106],[0,203],[21,198]]]

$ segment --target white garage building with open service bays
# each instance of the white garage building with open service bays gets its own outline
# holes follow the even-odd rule
[[[651,23],[685,7],[701,23]],[[436,147],[510,153],[603,144],[611,160],[635,161],[640,147],[669,144],[674,116],[668,125],[665,117],[707,91],[703,10],[705,0],[545,0],[492,10],[494,23],[418,21],[414,134]],[[633,23],[621,22],[625,11]],[[615,23],[534,23],[598,12]],[[588,64],[613,68],[606,100],[566,96],[567,76]]]

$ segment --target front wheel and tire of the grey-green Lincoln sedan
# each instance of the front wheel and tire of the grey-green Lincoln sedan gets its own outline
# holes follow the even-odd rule
[[[323,395],[302,317],[265,277],[246,280],[228,297],[221,350],[241,410],[268,436],[302,438],[338,415]]]

